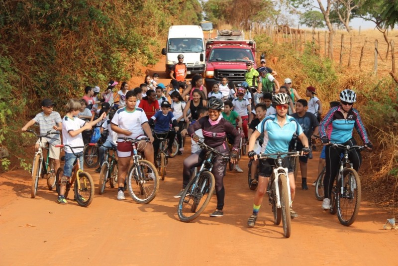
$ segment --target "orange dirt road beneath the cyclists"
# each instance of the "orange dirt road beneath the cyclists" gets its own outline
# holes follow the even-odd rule
[[[154,70],[163,68],[164,61]],[[0,175],[0,265],[398,264],[398,233],[382,230],[391,218],[385,211],[364,199],[356,222],[342,226],[321,210],[314,187],[300,190],[300,176],[294,202],[299,217],[292,222],[292,236],[285,239],[282,227],[273,224],[267,199],[256,227],[248,229],[254,192],[247,186],[246,156],[239,163],[243,173],[227,171],[225,176],[225,215],[208,216],[215,209],[213,197],[198,219],[180,222],[173,196],[181,189],[182,161],[189,153],[186,145],[182,156],[169,160],[166,180],[148,205],[134,203],[128,194],[118,201],[116,189],[108,186],[98,195],[99,174],[92,169],[96,197],[88,208],[71,199],[68,205],[56,204],[56,193],[48,191],[45,180],[31,199],[27,171]],[[318,155],[309,161],[309,184]]]

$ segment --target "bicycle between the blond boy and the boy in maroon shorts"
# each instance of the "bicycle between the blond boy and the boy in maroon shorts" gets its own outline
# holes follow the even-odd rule
[[[117,147],[107,147],[108,150],[105,153],[104,161],[100,171],[100,195],[105,190],[105,184],[109,181],[110,188],[114,188],[117,184],[117,172],[118,164],[116,159]],[[112,154],[110,153],[112,151]],[[110,161],[109,161],[110,159]]]

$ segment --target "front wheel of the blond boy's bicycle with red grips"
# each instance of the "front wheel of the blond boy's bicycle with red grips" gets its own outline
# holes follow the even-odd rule
[[[78,182],[80,183],[80,188]],[[75,179],[75,198],[82,207],[89,206],[93,201],[94,181],[89,173],[80,172],[79,177]]]

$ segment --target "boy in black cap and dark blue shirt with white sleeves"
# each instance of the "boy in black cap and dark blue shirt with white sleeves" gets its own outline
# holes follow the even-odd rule
[[[178,132],[180,128],[178,127],[176,118],[173,116],[173,113],[170,111],[171,107],[170,103],[168,101],[163,101],[160,107],[161,110],[156,112],[156,114],[149,119],[149,125],[155,124],[154,131],[156,132],[156,134],[155,134],[155,140],[153,141],[153,149],[155,151],[155,154],[157,154],[160,143],[160,140],[157,138],[157,134],[158,135],[159,133],[161,135],[167,134],[167,138],[169,139],[167,149],[169,153],[172,153],[173,141],[174,138],[176,137],[176,132]],[[170,130],[169,127],[170,124],[172,124],[175,131]]]

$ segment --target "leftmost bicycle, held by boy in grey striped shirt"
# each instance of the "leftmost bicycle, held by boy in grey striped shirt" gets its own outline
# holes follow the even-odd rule
[[[60,134],[59,132],[47,132],[45,134],[37,134],[33,130],[27,130],[26,132],[33,133],[39,138],[39,148],[34,154],[32,163],[32,186],[31,186],[31,198],[34,199],[37,193],[37,186],[39,184],[39,177],[44,178],[46,175],[47,187],[52,190],[55,186],[55,170],[54,170],[54,160],[50,160],[50,150],[47,145],[44,145],[42,138],[50,134]],[[47,149],[46,160],[43,160],[43,148]]]

